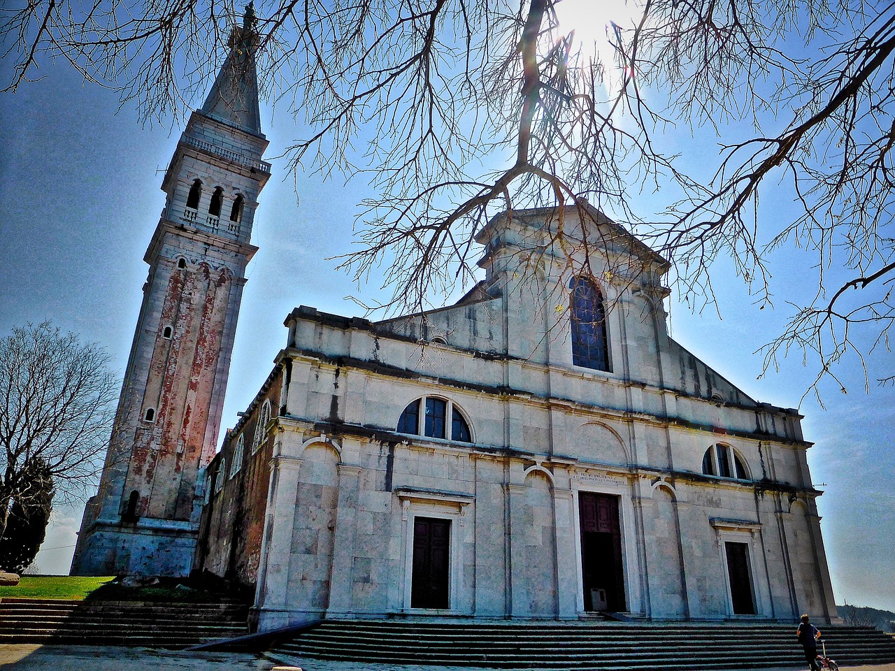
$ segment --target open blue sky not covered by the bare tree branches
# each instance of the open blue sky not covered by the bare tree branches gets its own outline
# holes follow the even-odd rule
[[[40,74],[43,80],[0,96],[0,333],[51,319],[105,346],[121,371],[148,269],[143,253],[164,204],[162,171],[183,124],[143,128],[131,106],[117,111],[114,94],[81,85],[62,64],[47,64]],[[8,75],[8,65],[0,65],[0,77]],[[361,309],[346,296],[367,303],[384,298],[375,282],[355,285],[328,260],[351,248],[365,184],[324,184],[300,174],[296,195],[285,161],[276,157],[303,133],[288,115],[271,120],[265,109],[262,116],[274,177],[260,197],[252,237],[260,251],[248,269],[222,429],[234,424],[267,377],[285,344],[282,322],[290,310],[306,304],[354,315]],[[711,143],[705,150],[714,152]],[[723,319],[712,309],[694,315],[671,302],[671,330],[749,395],[794,407],[812,369],[793,357],[779,373],[756,379],[762,357],[752,352],[776,334],[787,314],[785,298],[810,285],[814,271],[789,251],[777,254],[774,271],[775,310],[757,310],[729,264],[720,263],[712,280]],[[824,386],[825,411],[810,396],[800,409],[805,438],[815,443],[808,459],[824,491],[819,508],[837,602],[895,610],[895,388],[873,379],[874,372],[882,377],[895,370],[895,355],[879,352],[871,362],[869,394],[857,360],[849,359],[839,370],[848,395]],[[41,570],[67,572],[80,520],[80,510],[56,511],[38,555]]]

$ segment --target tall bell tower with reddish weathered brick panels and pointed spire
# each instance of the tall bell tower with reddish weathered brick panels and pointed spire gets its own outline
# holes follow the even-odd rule
[[[75,575],[186,575],[216,451],[262,160],[251,5],[167,168],[140,318]]]

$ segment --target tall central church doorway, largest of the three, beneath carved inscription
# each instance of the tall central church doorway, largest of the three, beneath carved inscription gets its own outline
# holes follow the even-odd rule
[[[579,492],[581,573],[584,610],[625,611],[625,573],[621,561],[620,497]]]

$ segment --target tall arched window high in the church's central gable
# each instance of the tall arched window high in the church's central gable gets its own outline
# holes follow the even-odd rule
[[[606,308],[600,289],[587,277],[573,277],[570,313],[572,321],[572,363],[594,370],[609,371],[609,338],[606,335]]]

